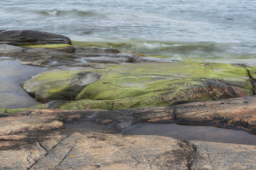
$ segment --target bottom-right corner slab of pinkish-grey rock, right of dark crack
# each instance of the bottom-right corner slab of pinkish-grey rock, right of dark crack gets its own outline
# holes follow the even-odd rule
[[[196,159],[191,169],[255,169],[254,145],[192,141]]]

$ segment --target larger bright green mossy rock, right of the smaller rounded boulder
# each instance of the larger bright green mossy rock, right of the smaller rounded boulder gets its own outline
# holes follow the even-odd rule
[[[78,101],[61,109],[121,109],[253,94],[247,69],[223,63],[144,63],[108,67]]]

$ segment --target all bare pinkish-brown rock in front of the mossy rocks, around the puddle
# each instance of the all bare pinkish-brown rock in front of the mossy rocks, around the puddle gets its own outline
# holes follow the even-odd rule
[[[219,102],[117,111],[45,109],[8,114],[0,118],[0,167],[2,169],[18,167],[22,169],[255,169],[256,150],[253,145],[185,142],[154,135],[120,134],[132,128],[137,122],[171,123],[183,122],[184,119],[186,122],[189,122],[187,120],[195,122],[194,118],[199,115],[203,117],[202,124],[212,120],[215,125],[235,129],[241,129],[243,125],[243,130],[255,133],[254,96]],[[242,107],[244,103],[247,105]],[[191,108],[193,112],[188,113]],[[230,108],[233,112],[227,113],[224,118]],[[64,129],[63,122],[79,120],[108,126],[96,130]],[[241,121],[245,121],[247,125],[236,126],[237,122]],[[199,124],[200,121],[197,123]]]

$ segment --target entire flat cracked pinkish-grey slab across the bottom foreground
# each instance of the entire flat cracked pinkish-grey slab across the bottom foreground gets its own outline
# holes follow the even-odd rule
[[[255,146],[91,130],[0,136],[1,169],[255,169]]]

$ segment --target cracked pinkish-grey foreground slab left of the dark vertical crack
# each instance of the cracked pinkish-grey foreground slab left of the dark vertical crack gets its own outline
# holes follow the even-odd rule
[[[1,169],[189,169],[195,156],[167,137],[59,130],[0,138]]]

